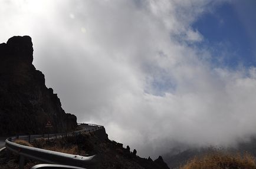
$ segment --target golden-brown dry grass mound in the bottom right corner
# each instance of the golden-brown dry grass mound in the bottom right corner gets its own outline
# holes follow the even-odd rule
[[[195,157],[188,161],[180,169],[242,169],[256,168],[255,158],[248,153],[243,155],[223,153],[221,151],[212,152],[199,158]]]

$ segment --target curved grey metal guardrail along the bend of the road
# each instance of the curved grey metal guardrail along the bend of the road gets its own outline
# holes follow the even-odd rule
[[[84,129],[73,131],[70,133],[58,133],[58,134],[37,134],[37,135],[23,135],[23,136],[13,136],[9,137],[5,140],[5,147],[7,150],[12,151],[14,153],[19,154],[19,169],[23,169],[24,167],[24,158],[29,158],[32,160],[38,160],[43,163],[50,164],[64,164],[64,165],[73,165],[76,167],[88,167],[95,168],[95,164],[97,162],[97,156],[78,156],[67,153],[60,153],[57,151],[44,150],[41,148],[34,148],[28,146],[22,146],[17,143],[13,143],[16,139],[22,138],[22,140],[33,141],[37,138],[45,138],[45,139],[54,139],[61,138],[65,136],[77,136],[81,134],[81,132],[90,133],[93,131],[103,129],[103,126],[99,126],[97,124],[80,124],[80,126],[84,127]]]

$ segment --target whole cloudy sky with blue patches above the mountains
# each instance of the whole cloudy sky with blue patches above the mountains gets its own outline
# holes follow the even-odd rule
[[[156,158],[256,134],[256,2],[0,0],[63,109]]]

